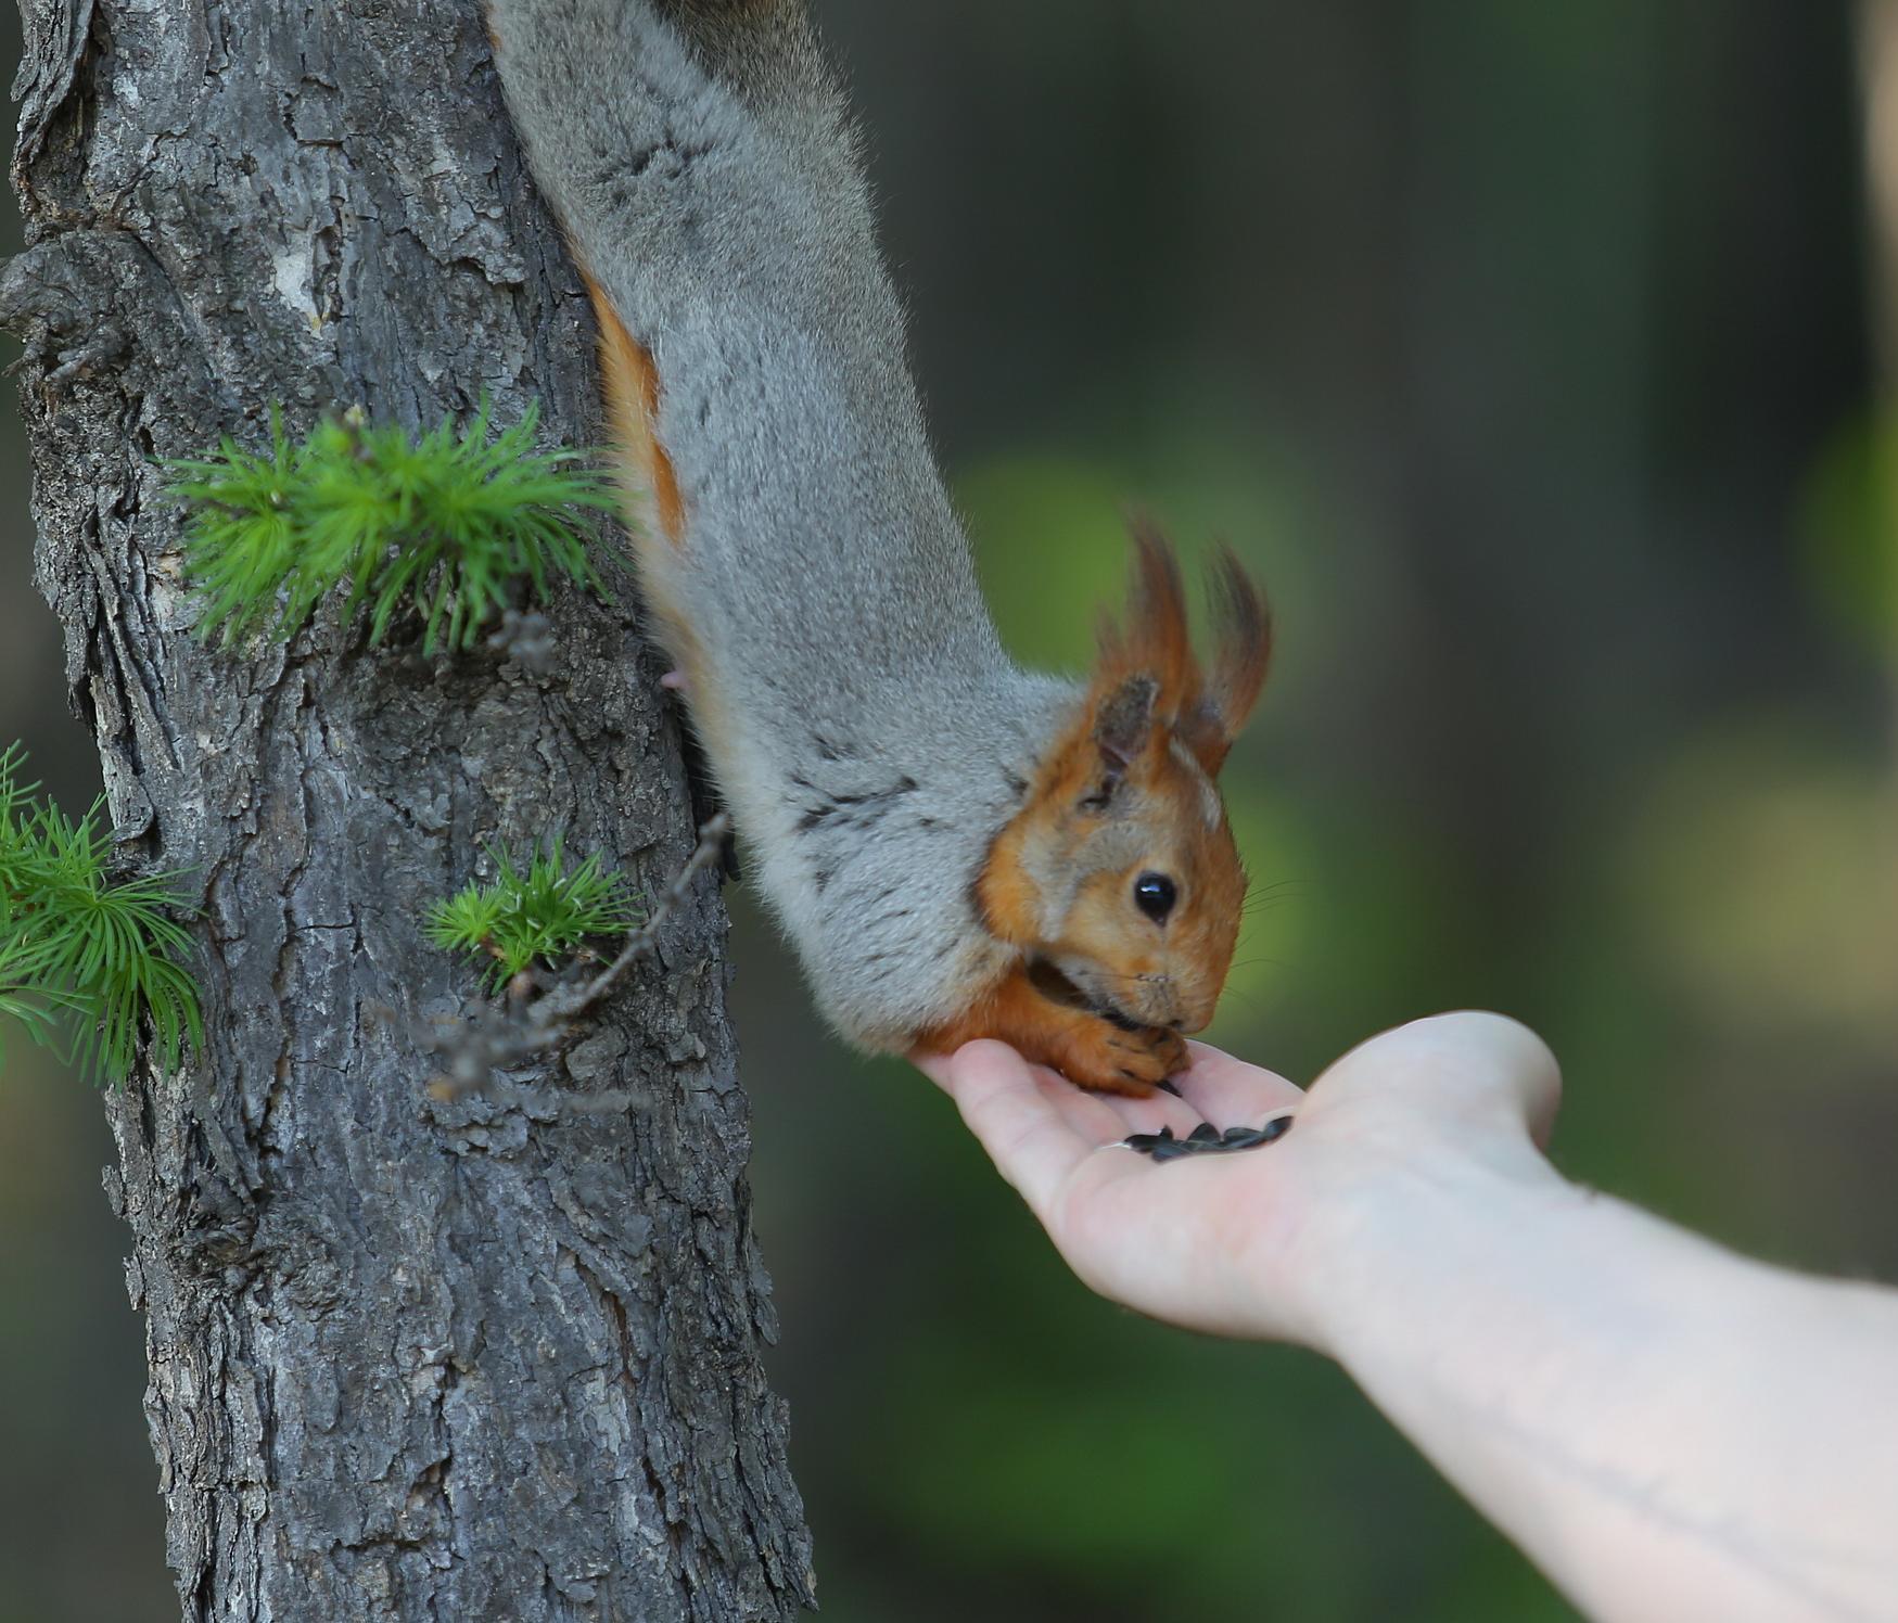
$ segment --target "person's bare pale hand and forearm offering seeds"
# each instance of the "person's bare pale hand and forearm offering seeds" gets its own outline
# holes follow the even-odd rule
[[[1107,1099],[998,1042],[917,1055],[1089,1287],[1300,1342],[1591,1617],[1898,1619],[1898,1291],[1769,1268],[1564,1181],[1543,1042],[1448,1014],[1310,1091],[1192,1044]],[[1110,1148],[1294,1112],[1262,1148]]]

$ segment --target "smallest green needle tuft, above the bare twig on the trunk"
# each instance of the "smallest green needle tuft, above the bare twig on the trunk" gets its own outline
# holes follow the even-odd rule
[[[488,966],[495,997],[530,964],[558,966],[596,936],[623,936],[638,923],[626,881],[600,871],[594,852],[571,873],[560,839],[528,858],[490,850],[492,885],[469,885],[429,907],[423,932],[437,947]]]

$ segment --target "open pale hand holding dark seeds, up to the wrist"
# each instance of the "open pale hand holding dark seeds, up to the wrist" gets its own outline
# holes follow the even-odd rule
[[[1494,1014],[1446,1014],[1353,1048],[1300,1091],[1190,1044],[1181,1097],[1084,1093],[1000,1042],[915,1055],[962,1110],[1069,1266],[1124,1306],[1188,1329],[1329,1350],[1348,1308],[1353,1240],[1380,1192],[1416,1177],[1551,1177],[1535,1150],[1554,1122],[1554,1057]],[[1237,1154],[1154,1164],[1129,1133],[1200,1122],[1296,1131]],[[1378,1243],[1370,1240],[1368,1243]]]

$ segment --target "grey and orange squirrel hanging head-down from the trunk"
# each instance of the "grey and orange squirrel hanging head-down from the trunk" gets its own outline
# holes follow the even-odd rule
[[[1201,666],[1137,524],[1086,681],[1002,651],[803,0],[488,0],[488,32],[598,315],[668,681],[820,1008],[869,1052],[995,1036],[1150,1093],[1237,940],[1215,780],[1258,587],[1219,554]]]

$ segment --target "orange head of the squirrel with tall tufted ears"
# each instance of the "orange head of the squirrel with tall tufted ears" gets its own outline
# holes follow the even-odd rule
[[[1226,549],[1211,598],[1201,666],[1173,550],[1137,522],[1126,625],[1103,626],[1076,721],[976,886],[1040,991],[1124,1025],[1205,1027],[1239,936],[1245,869],[1217,778],[1264,685],[1272,625]]]

